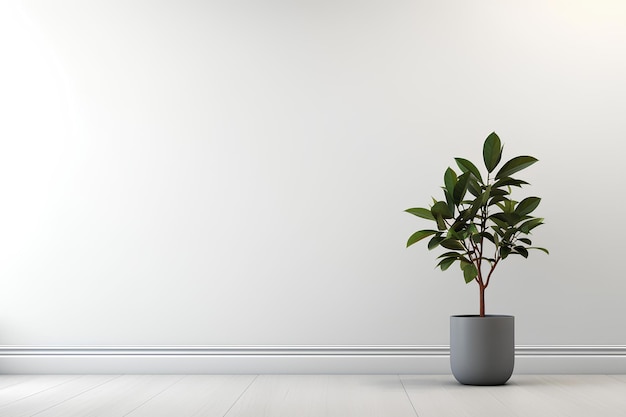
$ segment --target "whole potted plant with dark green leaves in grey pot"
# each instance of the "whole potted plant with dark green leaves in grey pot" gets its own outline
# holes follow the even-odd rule
[[[452,168],[445,171],[444,199],[433,198],[430,208],[406,210],[435,224],[433,229],[413,233],[407,247],[429,238],[428,249],[445,249],[437,267],[445,271],[456,263],[465,282],[478,285],[479,314],[450,317],[450,365],[462,384],[500,385],[511,377],[514,317],[485,314],[485,290],[496,267],[509,256],[527,258],[531,249],[548,253],[532,246],[528,237],[543,224],[542,218],[531,215],[541,199],[527,197],[518,202],[511,196],[512,187],[528,185],[512,175],[537,159],[517,156],[496,171],[501,158],[502,144],[494,132],[483,144],[486,176],[469,160],[455,158],[460,174]]]

